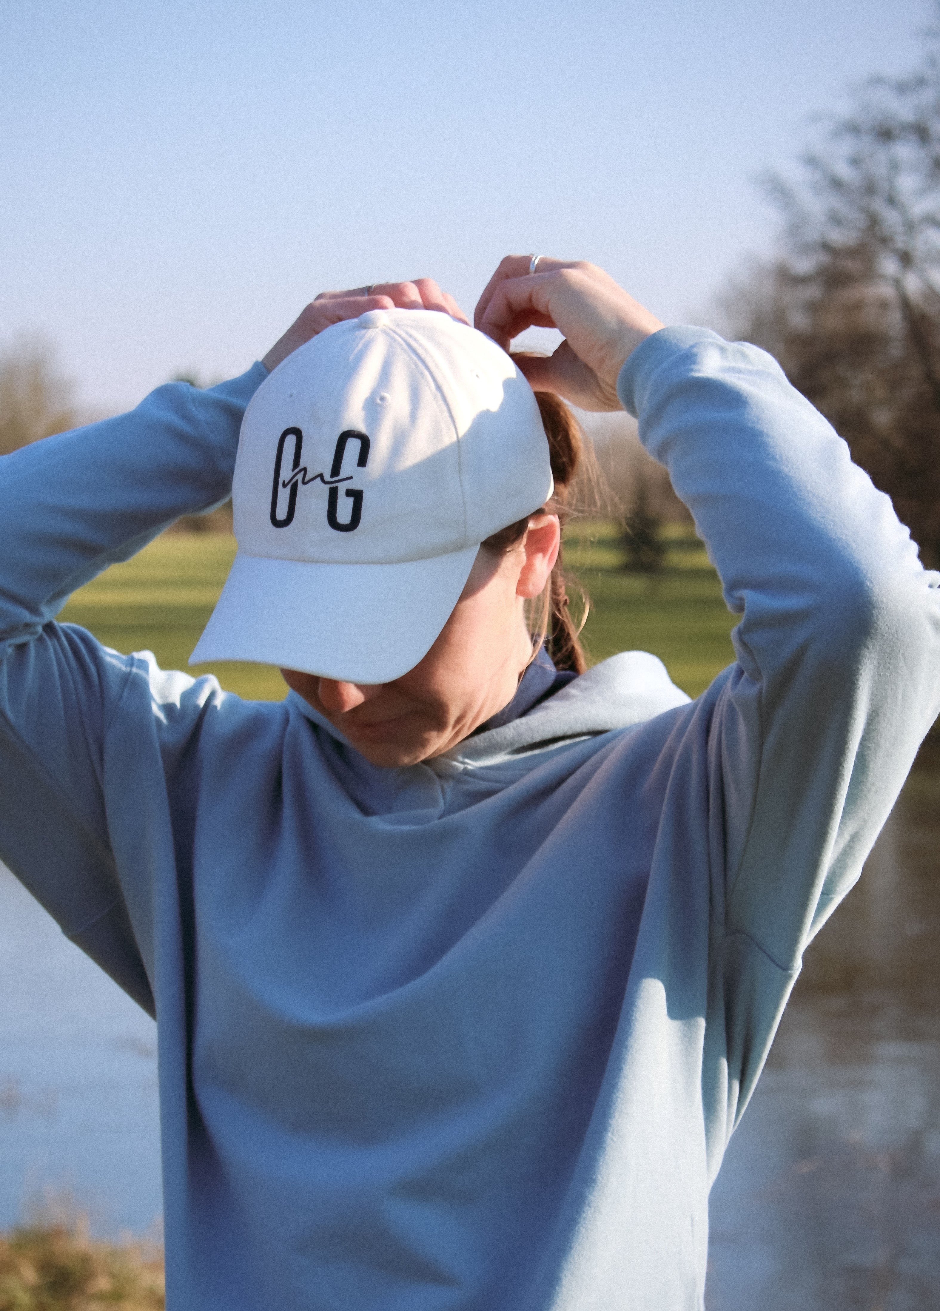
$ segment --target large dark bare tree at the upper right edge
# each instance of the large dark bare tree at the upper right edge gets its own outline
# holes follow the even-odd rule
[[[856,93],[796,181],[766,185],[780,256],[729,288],[726,328],[776,355],[937,565],[940,31],[910,76]]]

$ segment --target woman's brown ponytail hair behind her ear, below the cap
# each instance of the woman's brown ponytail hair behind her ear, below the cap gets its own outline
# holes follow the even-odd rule
[[[574,475],[585,454],[585,437],[581,431],[581,425],[562,400],[552,395],[552,392],[536,392],[535,399],[539,404],[541,425],[548,438],[548,454],[552,464],[552,477],[555,479],[555,492],[551,501],[547,502],[545,510],[549,514],[557,514],[564,528],[570,515],[569,496]],[[511,551],[524,538],[530,518],[531,515],[526,515],[524,519],[518,519],[515,523],[501,528],[490,538],[486,538],[482,545],[498,555]],[[583,628],[585,619],[587,619],[589,600],[585,593],[581,591],[583,614],[581,623],[576,624],[568,599],[568,587],[570,585],[577,586],[574,579],[565,573],[561,548],[558,548],[558,558],[555,562],[552,576],[541,597],[541,604],[534,607],[538,619],[532,616],[530,627],[535,629],[532,632],[535,650],[544,641],[545,650],[552,657],[556,669],[583,674],[587,669],[587,657],[578,636]]]

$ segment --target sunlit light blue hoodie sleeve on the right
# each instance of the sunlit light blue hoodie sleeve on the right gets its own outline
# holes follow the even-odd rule
[[[794,971],[940,709],[940,576],[764,351],[663,329],[619,392],[741,615],[709,729],[712,912]]]

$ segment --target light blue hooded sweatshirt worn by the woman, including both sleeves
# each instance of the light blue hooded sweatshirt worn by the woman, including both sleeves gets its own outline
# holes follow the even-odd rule
[[[223,499],[265,376],[0,460],[0,857],[156,1011],[170,1311],[701,1306],[708,1188],[801,953],[940,708],[940,593],[767,355],[619,380],[739,614],[379,770],[52,616]]]

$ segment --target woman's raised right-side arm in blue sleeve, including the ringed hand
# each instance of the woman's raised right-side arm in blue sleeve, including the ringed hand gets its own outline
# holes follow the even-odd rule
[[[709,851],[707,1032],[730,1131],[802,950],[857,878],[940,709],[940,576],[764,351],[663,329],[606,274],[548,260],[534,275],[527,258],[503,260],[477,324],[506,347],[531,324],[565,333],[520,367],[578,405],[637,416],[741,616],[737,665],[687,730],[708,759],[687,780],[686,840]]]

